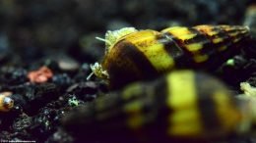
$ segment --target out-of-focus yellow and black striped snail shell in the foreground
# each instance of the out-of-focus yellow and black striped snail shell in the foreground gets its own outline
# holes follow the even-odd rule
[[[99,97],[63,122],[87,139],[103,136],[122,142],[123,137],[138,135],[158,142],[224,136],[248,119],[220,80],[202,72],[172,71],[155,81],[133,83]]]

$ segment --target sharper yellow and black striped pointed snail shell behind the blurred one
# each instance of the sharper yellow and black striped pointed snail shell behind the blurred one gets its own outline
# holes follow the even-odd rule
[[[117,89],[173,69],[211,71],[237,52],[239,43],[248,36],[248,27],[240,25],[132,31],[109,45],[101,63],[102,70],[97,74],[106,71],[110,87]]]

